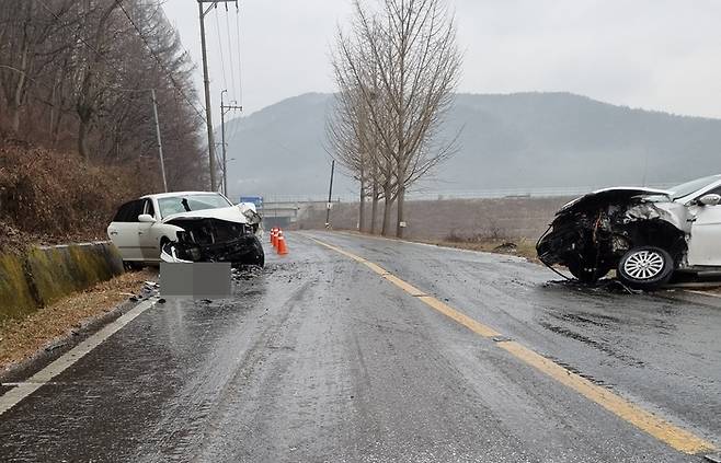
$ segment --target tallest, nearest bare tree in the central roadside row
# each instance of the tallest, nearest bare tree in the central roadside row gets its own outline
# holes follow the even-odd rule
[[[439,139],[453,104],[461,57],[444,0],[354,1],[350,34],[339,32],[334,54],[341,89],[355,88],[375,146],[375,173],[385,200],[382,234],[398,201],[396,234],[403,235],[405,195],[457,149]],[[359,121],[356,123],[360,125]]]

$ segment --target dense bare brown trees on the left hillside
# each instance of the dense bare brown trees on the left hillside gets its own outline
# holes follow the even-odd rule
[[[0,0],[5,138],[156,176],[154,89],[169,186],[203,186],[193,70],[160,0]]]

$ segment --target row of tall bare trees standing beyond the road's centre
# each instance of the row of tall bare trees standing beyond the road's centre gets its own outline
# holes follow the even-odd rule
[[[403,235],[409,188],[457,150],[440,135],[461,66],[445,0],[354,0],[333,50],[337,93],[327,120],[329,151],[359,183],[359,227]],[[371,205],[370,221],[366,202]]]

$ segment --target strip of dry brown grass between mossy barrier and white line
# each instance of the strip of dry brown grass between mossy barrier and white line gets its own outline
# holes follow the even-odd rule
[[[23,320],[0,324],[0,372],[30,358],[54,339],[81,328],[93,317],[112,311],[130,293],[136,294],[145,281],[156,279],[154,270],[126,273],[69,296]]]

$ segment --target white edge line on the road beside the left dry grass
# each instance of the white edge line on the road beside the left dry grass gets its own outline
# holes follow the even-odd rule
[[[126,314],[121,315],[115,321],[108,323],[98,333],[64,354],[60,358],[56,359],[50,364],[33,374],[24,382],[14,383],[18,384],[15,387],[0,396],[0,415],[18,405],[21,401],[41,389],[44,384],[49,383],[53,378],[67,370],[70,366],[80,360],[85,354],[100,346],[105,339],[113,336],[123,326],[130,323],[136,316],[153,306],[154,303],[154,299],[140,302]],[[13,383],[5,384],[12,385]]]

